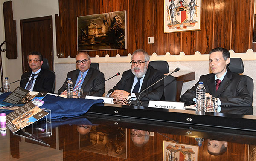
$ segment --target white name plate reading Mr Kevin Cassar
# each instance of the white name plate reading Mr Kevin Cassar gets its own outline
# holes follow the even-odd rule
[[[149,101],[148,107],[160,109],[185,109],[184,102],[167,102],[167,101]]]

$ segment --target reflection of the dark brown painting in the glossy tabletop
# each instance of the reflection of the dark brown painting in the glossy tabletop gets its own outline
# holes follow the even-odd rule
[[[91,126],[87,135],[79,135],[80,150],[127,158],[126,129]]]

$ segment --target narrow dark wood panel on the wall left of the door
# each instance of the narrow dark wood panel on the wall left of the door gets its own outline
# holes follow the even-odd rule
[[[6,57],[16,59],[17,54],[17,33],[16,21],[13,20],[12,1],[3,3],[4,33],[6,39]]]

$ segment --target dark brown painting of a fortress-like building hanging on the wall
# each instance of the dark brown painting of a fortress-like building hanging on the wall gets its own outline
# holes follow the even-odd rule
[[[126,49],[126,11],[77,17],[77,50]]]

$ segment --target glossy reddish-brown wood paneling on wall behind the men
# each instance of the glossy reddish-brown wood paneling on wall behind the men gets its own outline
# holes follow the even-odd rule
[[[56,15],[57,53],[64,57],[76,55],[76,17],[113,11],[127,11],[127,49],[88,51],[92,57],[126,56],[134,50],[145,49],[149,55],[186,55],[199,51],[208,54],[212,48],[224,47],[235,52],[256,48],[252,40],[253,0],[202,0],[201,31],[163,32],[164,0],[59,0]],[[154,36],[155,43],[148,44]]]

